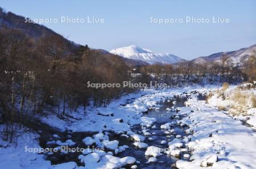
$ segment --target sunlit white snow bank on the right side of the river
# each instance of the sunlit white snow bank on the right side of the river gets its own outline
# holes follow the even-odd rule
[[[256,133],[224,111],[193,97],[192,112],[181,122],[193,137],[187,143],[192,162],[177,161],[178,168],[256,168]],[[182,113],[182,112],[181,112]],[[187,112],[184,112],[187,113]]]

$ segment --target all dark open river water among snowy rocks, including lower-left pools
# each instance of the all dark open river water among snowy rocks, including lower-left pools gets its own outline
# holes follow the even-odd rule
[[[175,129],[175,133],[172,134],[165,134],[164,130],[160,129],[160,125],[165,124],[166,122],[172,122],[172,121],[177,121],[179,119],[182,119],[183,117],[180,116],[179,119],[174,119],[170,118],[172,115],[176,113],[176,108],[177,107],[184,107],[184,102],[187,100],[187,96],[175,96],[174,99],[169,100],[170,102],[167,102],[167,100],[162,100],[162,102],[159,102],[159,105],[161,106],[159,110],[155,109],[149,109],[147,113],[145,113],[143,116],[147,117],[154,117],[156,119],[156,122],[154,125],[156,128],[148,128],[148,132],[154,133],[152,136],[145,136],[146,140],[144,141],[145,143],[148,144],[148,146],[157,146],[163,149],[168,148],[168,142],[174,140],[176,138],[176,135],[179,134],[182,137],[186,136],[187,134],[185,133],[185,130],[187,127],[181,127],[180,125],[176,124],[171,127],[171,129]],[[164,102],[163,102],[164,101]],[[173,102],[176,101],[176,104],[173,104]],[[175,112],[167,112],[166,108],[171,108],[174,107]],[[140,125],[134,125],[131,130],[135,133],[141,134],[142,133],[142,128]],[[72,133],[72,132],[64,132],[64,133],[57,133],[59,134],[60,138],[59,140],[67,140],[67,139],[72,139],[72,141],[76,142],[76,146],[80,147],[85,147],[84,143],[82,142],[83,138],[86,136],[92,137],[93,134],[91,132],[77,132],[77,133]],[[162,153],[160,157],[158,157],[158,161],[155,163],[148,163],[148,158],[146,155],[144,155],[146,149],[137,149],[133,145],[133,141],[127,138],[121,137],[121,134],[115,134],[115,133],[109,133],[110,140],[118,140],[119,145],[128,145],[129,149],[126,149],[125,151],[115,155],[117,157],[127,157],[131,156],[134,157],[137,161],[140,161],[141,164],[139,164],[139,168],[171,168],[171,164],[174,164],[176,160],[182,159],[183,155],[181,153],[180,157],[173,157],[171,155],[167,155]],[[49,134],[50,135],[50,134]],[[52,135],[51,135],[52,136]],[[153,138],[152,141],[148,140],[147,137]],[[46,145],[46,142],[49,140],[54,140],[54,138],[40,138],[40,146],[46,148],[49,147],[49,145]],[[160,142],[162,140],[166,140],[166,144],[161,144]],[[52,145],[52,147],[56,147],[56,145]],[[84,166],[84,164],[79,162],[78,156],[81,153],[68,153],[68,154],[61,154],[61,153],[53,153],[50,155],[47,155],[47,160],[51,160],[52,164],[58,164],[58,163],[64,163],[64,162],[69,162],[73,161],[76,162],[79,166]]]

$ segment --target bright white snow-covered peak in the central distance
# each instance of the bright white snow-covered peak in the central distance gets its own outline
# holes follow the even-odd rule
[[[143,49],[135,45],[131,45],[129,47],[116,48],[110,50],[109,52],[113,54],[118,54],[119,56],[125,58],[141,60],[147,62],[148,64],[175,64],[177,62],[184,61],[183,59],[173,54],[154,53],[149,49]]]

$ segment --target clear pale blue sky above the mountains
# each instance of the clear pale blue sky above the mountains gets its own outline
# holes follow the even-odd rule
[[[256,1],[12,1],[6,11],[33,19],[84,18],[84,23],[43,23],[78,44],[111,50],[138,45],[187,60],[256,44]],[[102,18],[104,23],[87,23]],[[185,23],[185,17],[210,23]],[[229,23],[212,23],[212,17]],[[183,19],[183,23],[151,23],[150,18]],[[202,19],[201,19],[202,20]]]

